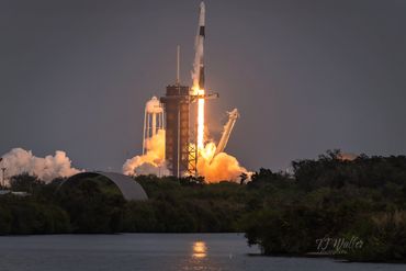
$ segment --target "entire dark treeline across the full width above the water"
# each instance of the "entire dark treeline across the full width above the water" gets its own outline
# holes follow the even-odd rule
[[[338,150],[260,169],[247,183],[135,177],[149,200],[126,202],[99,177],[59,188],[27,174],[0,196],[0,234],[245,232],[264,255],[406,259],[406,157],[346,159]]]

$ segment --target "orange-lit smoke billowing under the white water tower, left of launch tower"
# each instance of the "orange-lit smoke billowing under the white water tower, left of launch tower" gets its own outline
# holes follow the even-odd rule
[[[145,142],[146,153],[127,159],[123,166],[123,173],[128,176],[156,174],[168,176],[169,170],[165,165],[165,129]]]

